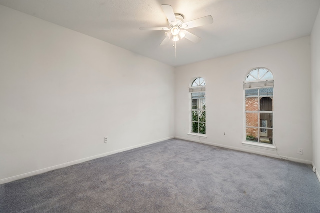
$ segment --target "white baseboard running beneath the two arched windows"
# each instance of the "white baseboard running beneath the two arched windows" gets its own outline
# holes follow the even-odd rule
[[[273,158],[288,159],[289,161],[295,161],[295,162],[304,163],[304,164],[312,164],[312,161],[309,161],[309,160],[292,158],[292,157],[288,157],[288,156],[279,156],[277,154],[271,154],[271,153],[260,152],[260,151],[253,151],[253,150],[249,150],[249,149],[245,149],[245,148],[238,148],[238,147],[228,146],[228,145],[224,145],[224,144],[207,142],[207,141],[201,140],[199,137],[184,138],[184,137],[175,136],[175,138],[183,139],[183,140],[187,140],[187,141],[194,141],[194,142],[198,142],[198,143],[202,143],[202,144],[213,145],[213,146],[217,146],[217,147],[223,147],[223,148],[232,149],[232,150],[255,153],[255,154],[259,154],[259,155],[266,155],[266,156],[273,157]]]

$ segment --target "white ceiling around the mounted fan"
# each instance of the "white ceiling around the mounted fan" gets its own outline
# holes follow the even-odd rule
[[[163,63],[180,66],[310,35],[320,0],[0,0],[0,4],[106,41]],[[190,21],[213,24],[188,29],[202,40],[159,44],[168,26],[161,4]]]

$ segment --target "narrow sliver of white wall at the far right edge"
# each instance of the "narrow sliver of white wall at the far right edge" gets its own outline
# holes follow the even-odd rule
[[[320,180],[320,10],[311,34],[313,166]]]

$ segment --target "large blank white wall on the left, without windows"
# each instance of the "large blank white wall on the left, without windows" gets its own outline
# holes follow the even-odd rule
[[[1,5],[0,31],[0,183],[174,136],[173,67]]]

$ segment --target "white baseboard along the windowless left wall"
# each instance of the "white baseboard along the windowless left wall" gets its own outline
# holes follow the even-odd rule
[[[112,154],[115,154],[115,153],[124,152],[124,151],[127,151],[127,150],[143,147],[143,146],[146,146],[146,145],[149,145],[149,144],[154,144],[154,143],[157,143],[157,142],[160,142],[160,141],[165,141],[165,140],[169,140],[169,139],[173,139],[173,138],[174,138],[174,136],[166,137],[166,138],[162,138],[162,139],[155,140],[155,141],[150,141],[150,142],[143,143],[143,144],[138,144],[138,145],[131,146],[131,147],[126,147],[126,148],[123,148],[123,149],[118,149],[118,150],[114,150],[114,151],[110,151],[110,152],[106,152],[106,153],[90,156],[90,157],[87,157],[87,158],[82,158],[82,159],[78,159],[78,160],[75,160],[75,161],[66,162],[66,163],[55,165],[55,166],[52,166],[52,167],[47,167],[47,168],[43,168],[43,169],[39,169],[39,170],[23,173],[23,174],[20,174],[20,175],[15,175],[15,176],[12,176],[12,177],[1,179],[0,180],[0,184],[8,183],[8,182],[15,181],[15,180],[22,179],[22,178],[27,178],[27,177],[30,177],[30,176],[33,176],[33,175],[38,175],[38,174],[41,174],[41,173],[45,173],[45,172],[48,172],[48,171],[51,171],[51,170],[56,170],[56,169],[60,169],[60,168],[63,168],[63,167],[68,167],[68,166],[71,166],[71,165],[74,165],[74,164],[79,164],[79,163],[82,163],[82,162],[85,162],[85,161],[90,161],[90,160],[93,160],[93,159],[96,159],[96,158],[105,157],[105,156],[112,155]]]

